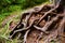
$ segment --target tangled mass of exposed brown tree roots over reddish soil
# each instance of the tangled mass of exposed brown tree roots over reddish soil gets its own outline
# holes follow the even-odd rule
[[[44,5],[37,12],[24,13],[20,24],[11,31],[10,39],[17,32],[25,32],[24,43],[50,43],[52,40],[62,39],[60,37],[65,38],[65,11],[58,12],[58,8],[60,4],[55,8]],[[34,31],[36,33],[32,33]]]

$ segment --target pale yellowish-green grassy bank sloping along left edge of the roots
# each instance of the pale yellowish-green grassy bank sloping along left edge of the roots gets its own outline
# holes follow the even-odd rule
[[[37,5],[37,6],[42,6],[44,4],[41,5]],[[35,8],[37,8],[35,6]],[[1,23],[0,23],[0,43],[17,43],[17,42],[22,42],[22,41],[17,41],[17,39],[14,39],[13,41],[8,40],[9,33],[12,29],[10,29],[10,23],[14,22],[13,26],[16,26],[20,22],[20,18],[22,16],[22,14],[24,12],[30,11],[34,8],[24,10],[24,11],[16,11],[11,13],[10,16],[5,17]]]

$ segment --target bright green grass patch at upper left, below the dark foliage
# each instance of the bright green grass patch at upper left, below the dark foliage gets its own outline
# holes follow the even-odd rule
[[[22,11],[20,5],[10,5],[8,9],[3,9],[0,13],[0,23],[6,17],[12,15],[12,12]]]

